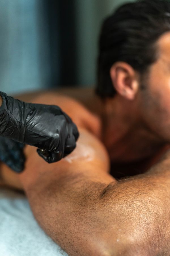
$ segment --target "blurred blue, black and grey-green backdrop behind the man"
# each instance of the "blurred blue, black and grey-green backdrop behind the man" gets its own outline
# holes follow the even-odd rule
[[[102,21],[125,2],[1,0],[0,90],[93,86]]]

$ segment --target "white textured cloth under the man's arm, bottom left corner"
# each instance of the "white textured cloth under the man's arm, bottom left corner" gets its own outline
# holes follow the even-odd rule
[[[35,220],[22,193],[0,189],[0,256],[68,256]]]

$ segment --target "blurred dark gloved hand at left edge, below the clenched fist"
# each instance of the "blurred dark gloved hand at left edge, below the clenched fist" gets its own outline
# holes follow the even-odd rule
[[[23,148],[24,144],[0,136],[0,161],[15,172],[22,172],[25,162]]]

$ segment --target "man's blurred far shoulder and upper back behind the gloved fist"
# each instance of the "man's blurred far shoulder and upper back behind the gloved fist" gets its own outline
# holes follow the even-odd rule
[[[87,129],[100,138],[101,119],[99,113],[95,111],[95,95],[93,95],[92,88],[63,88],[30,92],[15,97],[25,102],[57,105],[71,117],[78,127]]]

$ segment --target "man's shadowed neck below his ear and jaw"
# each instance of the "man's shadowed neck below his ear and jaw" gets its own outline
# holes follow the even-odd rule
[[[164,145],[140,120],[137,103],[120,96],[103,103],[103,143],[112,161],[137,161],[156,154]]]

